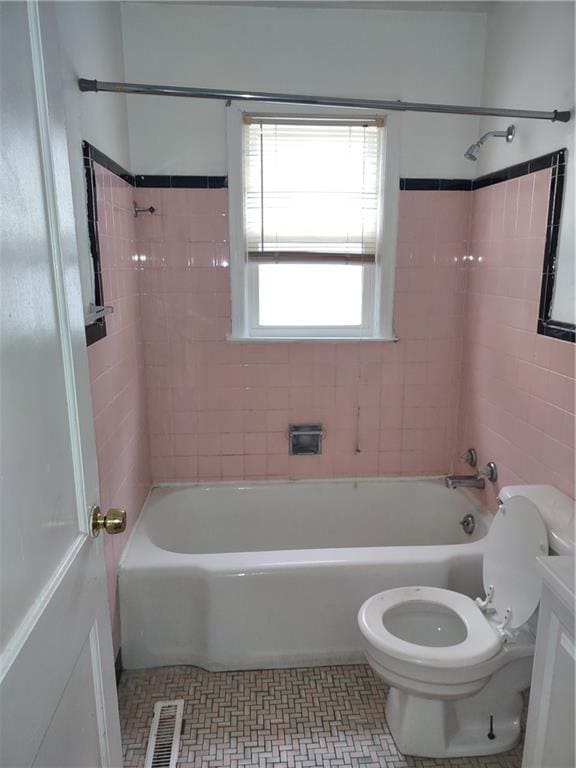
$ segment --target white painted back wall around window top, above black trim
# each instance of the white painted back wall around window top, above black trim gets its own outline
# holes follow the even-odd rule
[[[485,14],[128,3],[129,81],[478,104]],[[98,71],[88,76],[101,78]],[[132,96],[138,173],[226,174],[225,106]],[[471,177],[470,117],[405,114],[401,174]]]

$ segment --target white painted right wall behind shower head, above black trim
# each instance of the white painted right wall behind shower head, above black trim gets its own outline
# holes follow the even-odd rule
[[[495,3],[488,16],[484,106],[526,109],[574,108],[574,4]],[[510,121],[485,118],[481,130]],[[493,139],[479,158],[481,173],[568,148],[568,189],[564,201],[553,317],[574,322],[574,117],[569,123],[515,120],[517,134],[507,145]]]

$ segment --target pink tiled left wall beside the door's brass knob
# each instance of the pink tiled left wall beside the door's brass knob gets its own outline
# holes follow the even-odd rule
[[[95,165],[104,296],[114,306],[108,335],[88,347],[98,452],[100,506],[128,513],[125,533],[105,537],[115,651],[120,646],[116,573],[150,485],[149,439],[135,255],[134,190]]]

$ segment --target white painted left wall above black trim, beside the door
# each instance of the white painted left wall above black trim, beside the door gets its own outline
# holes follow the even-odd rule
[[[42,4],[43,5],[43,4]],[[92,266],[86,218],[86,189],[82,140],[86,139],[120,165],[130,163],[126,97],[81,93],[79,77],[124,80],[120,4],[115,2],[58,2],[54,10],[68,129],[74,213],[80,256],[84,306],[91,298]]]

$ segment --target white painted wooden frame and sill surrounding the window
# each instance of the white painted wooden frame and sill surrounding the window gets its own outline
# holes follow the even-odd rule
[[[375,340],[396,341],[393,329],[394,271],[400,188],[400,141],[398,116],[386,112],[341,110],[289,104],[233,102],[227,107],[228,207],[230,226],[230,280],[232,333],[229,340]],[[258,263],[249,262],[244,228],[244,116],[383,118],[384,136],[380,159],[380,219],[375,264],[365,271],[360,326],[260,326],[258,317]]]

